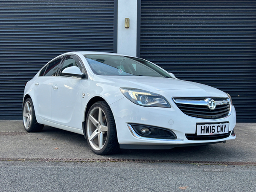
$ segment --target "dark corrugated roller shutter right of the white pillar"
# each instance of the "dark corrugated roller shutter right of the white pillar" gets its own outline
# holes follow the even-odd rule
[[[141,0],[140,57],[230,93],[256,122],[256,1]]]

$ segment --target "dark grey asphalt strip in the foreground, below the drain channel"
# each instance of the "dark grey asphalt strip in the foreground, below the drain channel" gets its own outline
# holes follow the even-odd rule
[[[255,192],[255,180],[256,166],[0,161],[1,192]]]

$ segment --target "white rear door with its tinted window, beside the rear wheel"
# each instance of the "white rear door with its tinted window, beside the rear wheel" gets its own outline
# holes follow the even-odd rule
[[[38,115],[47,121],[51,121],[51,91],[52,83],[61,64],[62,58],[57,58],[45,66],[34,84],[34,105]]]

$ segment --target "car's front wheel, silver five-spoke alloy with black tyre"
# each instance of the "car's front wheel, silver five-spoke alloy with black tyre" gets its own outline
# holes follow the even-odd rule
[[[107,102],[96,102],[90,107],[86,118],[86,139],[95,154],[119,151],[115,119]]]

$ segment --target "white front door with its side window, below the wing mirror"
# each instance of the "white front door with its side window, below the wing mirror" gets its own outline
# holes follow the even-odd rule
[[[52,84],[52,122],[81,129],[81,99],[88,81],[86,78],[64,76],[62,71],[71,66],[79,67],[81,72],[86,73],[79,58],[74,55],[66,56]]]

